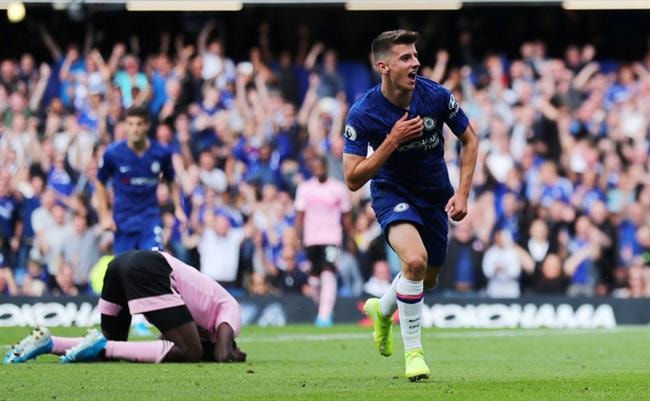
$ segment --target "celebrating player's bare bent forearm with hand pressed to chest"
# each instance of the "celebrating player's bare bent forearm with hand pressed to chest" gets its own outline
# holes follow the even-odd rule
[[[366,158],[351,153],[343,154],[343,174],[345,184],[350,190],[358,190],[374,177],[400,144],[422,135],[422,118],[420,116],[410,120],[407,118],[408,112],[397,120],[384,142],[370,157]]]

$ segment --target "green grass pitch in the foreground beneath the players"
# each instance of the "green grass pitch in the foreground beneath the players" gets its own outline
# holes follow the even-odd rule
[[[0,328],[0,351],[28,332]],[[650,327],[427,329],[423,342],[433,374],[419,383],[403,377],[402,352],[375,352],[369,329],[248,326],[240,337],[247,363],[60,365],[41,356],[0,365],[0,401],[650,400]]]

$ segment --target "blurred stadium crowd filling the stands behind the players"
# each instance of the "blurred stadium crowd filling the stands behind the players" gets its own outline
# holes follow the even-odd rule
[[[151,138],[173,152],[189,217],[179,224],[161,184],[166,249],[236,295],[310,294],[296,188],[317,156],[343,179],[355,77],[304,31],[297,51],[272,54],[261,25],[248,60],[232,60],[218,28],[206,24],[195,43],[162,34],[152,54],[137,42],[101,54],[90,32],[82,47],[62,49],[41,26],[49,62],[29,53],[1,60],[0,295],[96,290],[93,273],[112,253],[93,196],[97,170],[107,145],[125,138],[132,105],[150,110]],[[470,215],[452,225],[437,291],[650,296],[650,51],[599,63],[590,44],[550,57],[530,41],[516,58],[477,58],[471,35],[459,41],[453,64],[445,50],[420,60],[480,138]],[[445,137],[455,184],[458,144]],[[398,261],[368,189],[349,196],[338,291],[381,295]]]

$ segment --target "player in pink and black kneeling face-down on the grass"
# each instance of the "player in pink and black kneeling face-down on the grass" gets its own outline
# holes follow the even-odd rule
[[[241,308],[223,287],[195,268],[158,251],[134,250],[108,266],[99,300],[101,330],[85,337],[56,337],[35,328],[5,356],[19,363],[52,353],[61,362],[243,362],[235,343]],[[132,314],[160,330],[155,341],[127,341]]]

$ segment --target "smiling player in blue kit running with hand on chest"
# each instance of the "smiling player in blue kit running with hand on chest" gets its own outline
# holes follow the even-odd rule
[[[467,215],[478,140],[449,90],[417,76],[418,34],[387,31],[372,42],[381,84],[350,109],[345,127],[345,181],[355,191],[371,182],[372,206],[400,257],[402,272],[381,299],[364,305],[374,323],[375,345],[392,354],[392,316],[399,310],[406,377],[429,377],[420,321],[424,288],[437,284],[447,253],[447,219]],[[443,157],[442,126],[460,139],[460,183],[454,193]],[[374,152],[367,156],[368,145]]]

